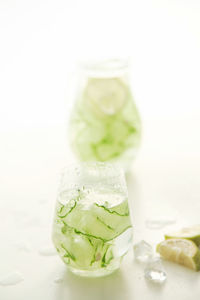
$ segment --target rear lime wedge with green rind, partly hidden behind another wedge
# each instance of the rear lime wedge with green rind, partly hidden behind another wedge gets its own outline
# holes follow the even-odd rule
[[[188,239],[200,246],[200,225],[182,228],[177,232],[165,234],[165,239]]]

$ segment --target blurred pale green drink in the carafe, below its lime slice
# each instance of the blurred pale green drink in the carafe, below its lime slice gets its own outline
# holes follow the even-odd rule
[[[103,114],[104,117],[98,115],[102,111],[96,106],[91,109],[92,101],[84,97],[77,101],[71,119],[72,147],[82,161],[117,160],[128,149],[138,148],[140,119],[129,94],[116,114]]]

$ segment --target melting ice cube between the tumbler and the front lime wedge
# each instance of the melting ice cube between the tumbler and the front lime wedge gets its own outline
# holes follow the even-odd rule
[[[148,262],[153,256],[153,249],[145,241],[141,241],[133,246],[135,259],[138,262]]]

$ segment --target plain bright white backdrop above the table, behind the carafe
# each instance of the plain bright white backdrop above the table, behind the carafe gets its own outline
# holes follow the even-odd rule
[[[0,43],[1,127],[65,120],[74,63],[91,56],[131,58],[143,117],[199,116],[198,0],[1,0]]]

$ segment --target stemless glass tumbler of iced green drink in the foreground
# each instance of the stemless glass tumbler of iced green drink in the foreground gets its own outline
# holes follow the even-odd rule
[[[53,243],[68,268],[104,276],[120,266],[132,244],[124,173],[108,163],[81,163],[62,174]]]

